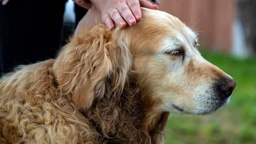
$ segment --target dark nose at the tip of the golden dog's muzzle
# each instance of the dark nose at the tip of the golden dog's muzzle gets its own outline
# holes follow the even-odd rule
[[[229,97],[236,87],[236,82],[233,79],[225,78],[222,80],[222,82],[219,84],[222,90],[222,95],[225,96],[225,98]]]

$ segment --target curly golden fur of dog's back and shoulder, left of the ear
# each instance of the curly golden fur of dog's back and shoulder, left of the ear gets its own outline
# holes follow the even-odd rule
[[[0,80],[1,144],[99,142],[88,120],[57,90],[54,61],[22,66]]]

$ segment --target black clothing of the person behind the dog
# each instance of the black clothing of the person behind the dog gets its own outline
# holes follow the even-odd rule
[[[65,2],[10,0],[0,4],[0,70],[54,58],[61,45]],[[75,6],[76,22],[87,10]]]

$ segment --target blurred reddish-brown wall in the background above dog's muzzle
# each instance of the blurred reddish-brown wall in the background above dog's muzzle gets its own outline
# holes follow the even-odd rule
[[[177,16],[194,31],[208,48],[229,51],[235,0],[160,0],[159,8]]]

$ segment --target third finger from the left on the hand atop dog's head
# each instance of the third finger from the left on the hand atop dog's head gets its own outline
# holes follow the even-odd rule
[[[128,5],[124,5],[118,8],[118,11],[120,12],[121,16],[125,19],[125,21],[130,25],[134,26],[136,24],[136,19],[133,16],[130,8]]]

